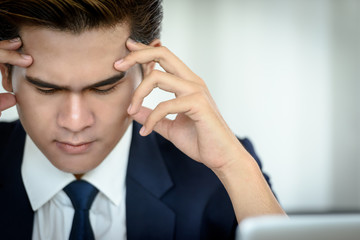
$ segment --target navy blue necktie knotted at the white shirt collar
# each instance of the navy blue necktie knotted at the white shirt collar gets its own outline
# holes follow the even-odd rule
[[[94,239],[89,210],[99,190],[88,182],[76,180],[67,185],[64,191],[69,196],[75,210],[69,240]]]

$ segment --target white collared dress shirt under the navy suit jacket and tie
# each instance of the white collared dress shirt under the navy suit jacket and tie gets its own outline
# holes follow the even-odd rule
[[[126,239],[125,177],[132,126],[95,169],[82,179],[99,189],[89,217],[95,239]],[[35,211],[33,239],[69,239],[74,208],[62,190],[73,174],[54,167],[26,136],[21,174]]]

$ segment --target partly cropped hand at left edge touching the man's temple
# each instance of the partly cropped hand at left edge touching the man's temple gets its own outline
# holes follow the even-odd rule
[[[3,81],[11,81],[9,69],[6,64],[19,67],[28,67],[32,63],[31,56],[17,52],[22,43],[20,38],[0,41],[0,69]],[[6,110],[16,104],[15,96],[11,93],[0,93],[0,116]]]

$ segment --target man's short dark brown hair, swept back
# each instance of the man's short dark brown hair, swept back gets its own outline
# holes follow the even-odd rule
[[[160,38],[162,0],[0,0],[0,40],[19,36],[23,25],[43,26],[74,34],[130,26],[130,36],[149,44]]]

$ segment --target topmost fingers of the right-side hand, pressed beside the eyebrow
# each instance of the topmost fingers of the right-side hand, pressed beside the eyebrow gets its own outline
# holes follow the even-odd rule
[[[154,61],[159,63],[166,72],[181,78],[190,80],[196,76],[176,55],[164,46],[150,47],[131,40],[128,40],[126,44],[131,53],[115,63],[114,66],[119,71],[126,71],[135,64]]]

